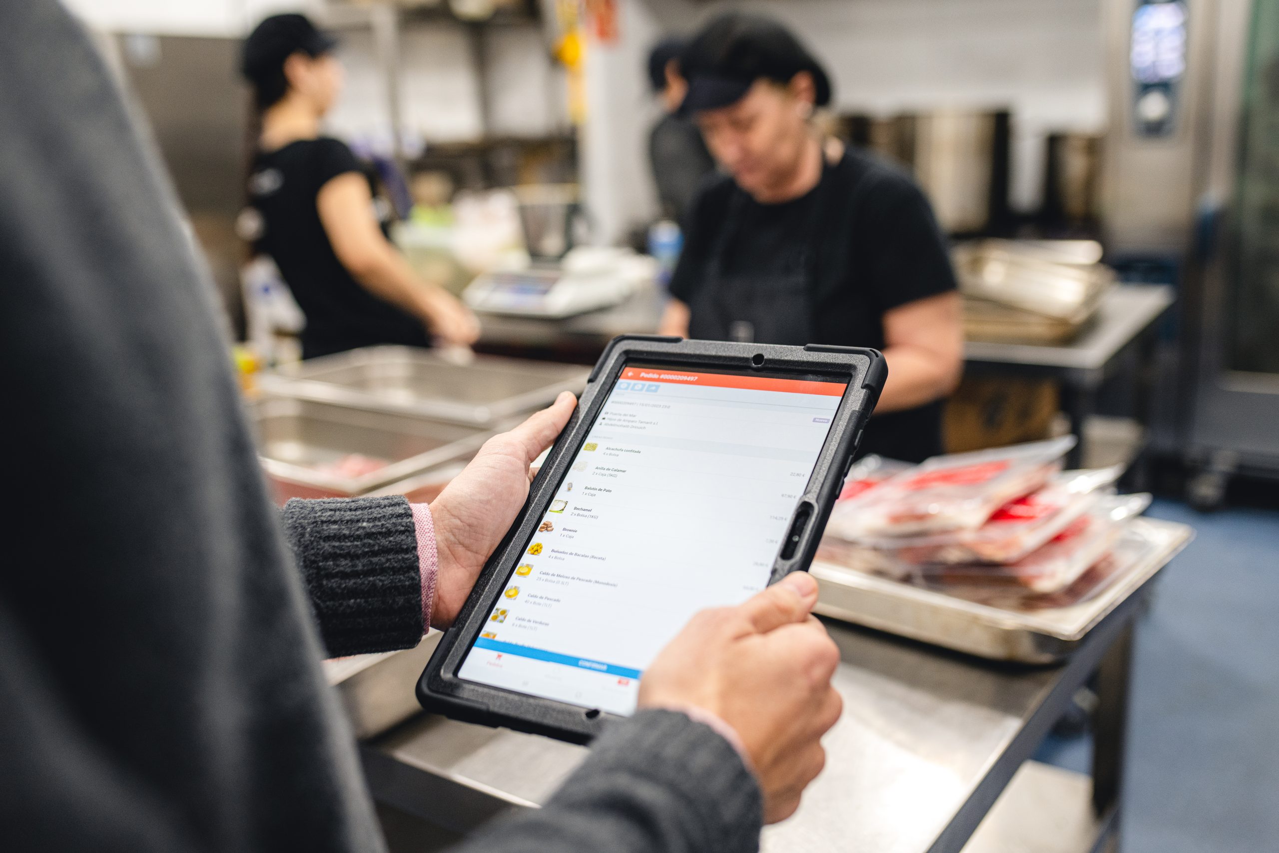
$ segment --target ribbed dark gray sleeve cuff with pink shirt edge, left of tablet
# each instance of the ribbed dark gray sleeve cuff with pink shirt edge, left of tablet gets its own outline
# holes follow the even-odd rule
[[[329,655],[417,645],[422,581],[404,497],[294,499],[281,518]]]

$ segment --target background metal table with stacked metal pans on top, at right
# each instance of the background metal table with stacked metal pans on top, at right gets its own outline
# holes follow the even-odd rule
[[[1120,370],[1136,370],[1137,417],[1146,419],[1155,324],[1174,301],[1173,288],[1164,284],[1119,285],[1104,297],[1092,325],[1073,343],[1044,347],[969,340],[964,344],[964,370],[1058,380],[1071,432],[1079,437],[1067,467],[1078,468],[1086,450],[1083,426],[1096,411],[1097,389]]]

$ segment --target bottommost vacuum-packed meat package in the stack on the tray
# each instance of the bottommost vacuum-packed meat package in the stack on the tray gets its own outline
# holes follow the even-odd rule
[[[1124,522],[1150,505],[1150,495],[1104,496],[1050,542],[1009,565],[921,565],[918,577],[939,587],[1013,587],[1039,593],[1056,592],[1074,583],[1104,560],[1124,528]]]

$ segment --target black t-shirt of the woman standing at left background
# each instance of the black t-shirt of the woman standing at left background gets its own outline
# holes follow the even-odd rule
[[[263,225],[255,247],[280,267],[307,317],[302,357],[373,344],[428,347],[422,321],[366,290],[333,251],[316,200],[348,171],[368,178],[376,197],[372,173],[343,142],[325,137],[260,152],[249,176],[249,200]]]

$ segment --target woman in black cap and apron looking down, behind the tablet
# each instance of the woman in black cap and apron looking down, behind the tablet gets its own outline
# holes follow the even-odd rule
[[[881,349],[889,380],[862,451],[940,453],[940,400],[959,379],[963,334],[923,193],[813,129],[830,82],[780,24],[716,18],[680,65],[680,109],[729,174],[693,202],[663,333]]]

